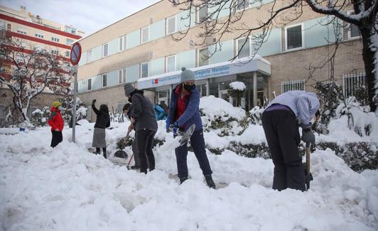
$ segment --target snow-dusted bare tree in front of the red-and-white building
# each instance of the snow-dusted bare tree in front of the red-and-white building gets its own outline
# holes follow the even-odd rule
[[[31,100],[41,92],[70,93],[69,63],[47,50],[26,50],[21,41],[5,38],[0,44],[0,66],[0,86],[11,90],[14,108],[23,121],[29,121]]]

